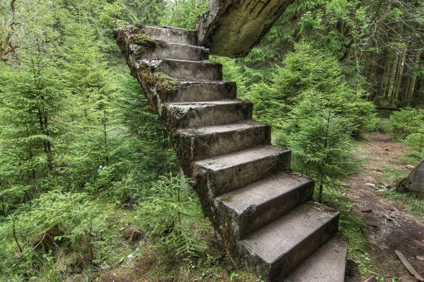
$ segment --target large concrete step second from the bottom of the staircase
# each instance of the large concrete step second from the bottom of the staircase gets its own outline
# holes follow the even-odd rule
[[[283,281],[338,230],[338,212],[317,204],[302,204],[237,243],[235,259],[266,281]]]

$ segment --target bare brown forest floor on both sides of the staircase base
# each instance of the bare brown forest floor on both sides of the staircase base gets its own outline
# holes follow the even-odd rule
[[[370,263],[361,265],[358,262],[360,269],[350,263],[349,270],[353,274],[349,274],[346,281],[363,281],[361,274],[367,277],[375,274],[377,281],[416,281],[396,257],[395,250],[401,251],[424,276],[424,261],[417,258],[424,257],[424,217],[420,212],[411,212],[408,201],[413,195],[391,189],[394,181],[406,176],[409,168],[403,157],[406,147],[390,138],[391,135],[371,133],[369,140],[355,142],[355,157],[363,161],[363,166],[359,173],[346,180],[351,189],[344,191],[344,197],[353,202],[352,211],[362,221],[362,233],[358,234],[365,237],[367,247],[361,251],[367,252]],[[422,206],[423,202],[419,201],[416,202]],[[140,242],[139,247],[141,254],[130,266],[105,271],[97,281],[230,281],[228,266],[223,262],[215,266],[203,263],[184,266],[172,262],[150,244]],[[225,257],[224,250],[221,255]],[[252,274],[237,273],[238,277],[232,281],[261,281]]]

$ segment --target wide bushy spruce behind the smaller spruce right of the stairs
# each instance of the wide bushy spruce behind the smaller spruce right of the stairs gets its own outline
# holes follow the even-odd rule
[[[311,91],[320,93],[324,106],[348,118],[356,135],[375,127],[375,106],[363,99],[364,91],[344,81],[333,56],[306,42],[295,45],[295,51],[285,56],[284,66],[276,67],[271,80],[271,84],[261,82],[249,87],[246,97],[254,102],[255,116],[276,129],[281,128],[290,107]]]

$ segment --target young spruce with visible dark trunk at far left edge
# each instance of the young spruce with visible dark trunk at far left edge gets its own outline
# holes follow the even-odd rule
[[[54,173],[66,149],[68,127],[61,121],[69,92],[57,63],[34,53],[20,66],[0,69],[0,208],[6,216],[18,203],[44,190],[42,178]]]

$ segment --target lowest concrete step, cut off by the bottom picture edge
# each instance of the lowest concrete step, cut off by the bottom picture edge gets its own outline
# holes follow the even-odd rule
[[[344,282],[348,244],[333,238],[293,270],[284,282]]]

